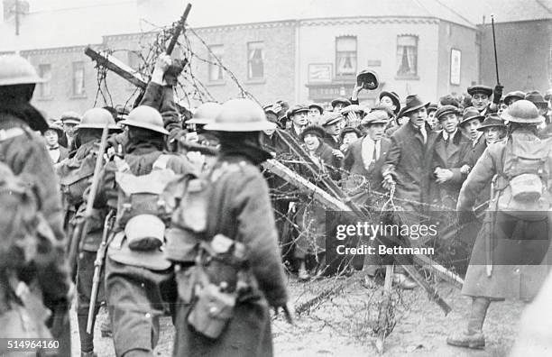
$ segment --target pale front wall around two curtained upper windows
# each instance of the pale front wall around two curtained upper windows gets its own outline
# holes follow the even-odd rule
[[[418,41],[418,75],[415,78],[397,76],[397,36],[416,35]],[[325,19],[301,21],[299,26],[299,100],[308,98],[308,65],[331,63],[335,79],[336,37],[357,37],[357,71],[373,69],[379,76],[379,90],[396,91],[401,98],[419,94],[422,98],[437,96],[438,21],[415,18]],[[354,78],[345,85],[346,96],[351,95]],[[363,93],[363,96],[373,97]],[[368,98],[368,104],[373,99]]]

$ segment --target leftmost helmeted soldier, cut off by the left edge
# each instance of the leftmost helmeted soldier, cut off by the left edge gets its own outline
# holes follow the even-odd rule
[[[33,131],[44,133],[48,124],[31,104],[32,93],[41,78],[31,63],[20,56],[0,56],[0,160],[23,182],[34,188],[39,210],[50,225],[55,240],[51,260],[26,271],[25,282],[38,285],[51,311],[47,326],[60,341],[59,355],[70,355],[69,279],[63,257],[65,234],[60,191],[44,142]]]

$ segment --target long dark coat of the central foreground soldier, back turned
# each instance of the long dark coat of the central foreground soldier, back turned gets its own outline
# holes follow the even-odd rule
[[[215,341],[189,328],[185,319],[190,306],[182,304],[173,356],[271,356],[269,305],[281,306],[288,300],[266,182],[259,169],[243,156],[219,160],[214,172],[224,163],[233,169],[223,170],[212,184],[207,236],[223,233],[247,246],[262,296],[238,302],[229,325]]]

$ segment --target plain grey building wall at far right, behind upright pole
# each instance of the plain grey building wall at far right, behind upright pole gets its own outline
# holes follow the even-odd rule
[[[483,84],[496,83],[492,27],[480,26],[482,32]],[[504,93],[512,90],[545,92],[552,87],[552,21],[495,23],[499,76]]]

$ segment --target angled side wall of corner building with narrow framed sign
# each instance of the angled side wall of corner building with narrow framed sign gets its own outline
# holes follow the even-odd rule
[[[478,81],[479,53],[476,43],[477,32],[474,29],[455,23],[441,21],[439,23],[439,45],[437,65],[437,96],[446,94],[461,95],[467,87]],[[460,52],[459,84],[456,81],[457,72],[451,66],[452,50]],[[454,83],[451,81],[451,70],[455,71]],[[436,102],[436,98],[431,101]]]

